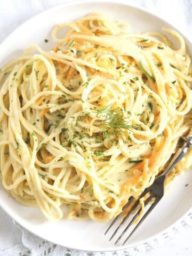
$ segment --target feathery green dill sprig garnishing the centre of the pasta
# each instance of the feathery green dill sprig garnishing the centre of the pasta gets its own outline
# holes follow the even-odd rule
[[[100,126],[103,128],[103,137],[108,137],[109,133],[122,134],[125,133],[125,130],[138,130],[138,125],[131,125],[127,122],[129,117],[125,117],[122,108],[110,109],[109,106],[105,106],[97,110],[98,117],[103,114],[105,119],[100,123]]]

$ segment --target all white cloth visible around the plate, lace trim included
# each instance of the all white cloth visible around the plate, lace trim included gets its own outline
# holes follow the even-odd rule
[[[43,10],[66,2],[72,2],[72,0],[0,0],[0,42],[25,20]],[[153,10],[192,38],[192,0],[127,0],[126,2]],[[163,239],[158,237],[145,245],[127,252],[115,253],[115,255],[191,256],[192,228],[189,226],[191,220],[192,217],[189,216],[185,221],[180,221],[175,228],[166,233],[167,237]],[[69,256],[70,254],[83,255],[84,253],[68,252],[60,246],[30,235],[25,230],[21,231],[0,208],[0,256]]]

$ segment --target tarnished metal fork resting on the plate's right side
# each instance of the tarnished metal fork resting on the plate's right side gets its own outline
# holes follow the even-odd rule
[[[147,210],[147,212],[142,216],[140,221],[137,223],[137,225],[133,228],[131,233],[126,237],[126,239],[124,240],[122,245],[124,245],[127,242],[127,240],[133,235],[134,231],[141,225],[141,223],[147,218],[149,213],[155,208],[155,206],[158,204],[158,202],[162,199],[162,197],[164,195],[164,181],[165,181],[167,175],[173,170],[174,166],[186,155],[189,147],[192,145],[192,130],[190,130],[190,132],[189,132],[187,137],[181,137],[181,138],[184,141],[184,145],[183,145],[182,148],[179,148],[176,151],[176,153],[174,154],[174,156],[172,158],[172,161],[166,167],[166,170],[164,171],[164,173],[162,175],[158,176],[155,179],[154,183],[150,187],[146,188],[143,191],[143,193],[140,195],[139,198],[137,198],[137,201],[133,204],[132,207],[131,207],[131,203],[133,203],[134,197],[130,197],[129,201],[124,205],[124,207],[122,209],[122,212],[117,215],[117,217],[113,220],[113,222],[111,222],[110,226],[108,227],[108,229],[105,232],[105,235],[108,233],[109,229],[112,226],[114,226],[115,222],[120,217],[123,216],[123,214],[125,213],[127,208],[129,206],[131,207],[130,211],[125,215],[125,217],[123,218],[123,220],[121,221],[119,226],[115,229],[114,233],[111,235],[109,241],[111,241],[111,239],[116,235],[116,233],[119,230],[119,228],[121,228],[123,226],[123,224],[125,223],[125,221],[130,217],[130,214],[133,213],[134,210],[137,210],[137,207],[140,204],[140,202],[139,202],[140,198],[144,197],[145,195],[147,195],[149,193],[149,197],[145,201],[145,206],[151,201],[151,199],[154,199],[154,201],[150,205],[150,207]],[[137,219],[137,217],[139,216],[140,211],[141,211],[141,207],[137,211],[137,213],[134,215],[132,220],[128,223],[128,225],[125,227],[125,229],[123,230],[121,235],[119,235],[119,237],[116,239],[115,244],[117,244],[118,241],[125,235],[127,229],[129,229],[129,227],[132,225],[134,220]]]

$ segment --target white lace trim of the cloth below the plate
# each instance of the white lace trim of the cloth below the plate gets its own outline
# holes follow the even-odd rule
[[[13,221],[14,225],[22,232],[22,244],[10,249],[0,251],[0,256],[141,256],[148,251],[155,250],[182,234],[186,226],[192,227],[192,211],[185,215],[172,228],[157,235],[148,242],[131,247],[126,251],[115,252],[85,252],[70,250],[41,239],[27,230],[21,228]]]

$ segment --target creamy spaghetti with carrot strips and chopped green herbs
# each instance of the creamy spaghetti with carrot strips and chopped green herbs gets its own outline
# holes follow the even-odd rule
[[[12,197],[51,221],[62,205],[69,219],[108,221],[154,182],[192,125],[190,57],[163,31],[178,49],[92,13],[56,26],[51,51],[30,46],[1,69],[0,175]]]

